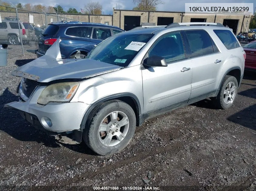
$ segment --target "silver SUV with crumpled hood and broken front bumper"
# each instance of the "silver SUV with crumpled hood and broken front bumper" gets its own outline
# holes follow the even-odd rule
[[[216,23],[118,33],[87,59],[61,59],[58,43],[12,72],[22,77],[21,98],[5,107],[61,142],[83,139],[100,155],[123,149],[149,117],[207,97],[228,109],[244,73],[243,48]]]

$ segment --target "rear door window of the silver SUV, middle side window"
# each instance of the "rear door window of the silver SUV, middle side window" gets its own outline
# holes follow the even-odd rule
[[[203,56],[214,53],[211,37],[204,30],[186,31],[188,42],[191,48],[192,57]]]

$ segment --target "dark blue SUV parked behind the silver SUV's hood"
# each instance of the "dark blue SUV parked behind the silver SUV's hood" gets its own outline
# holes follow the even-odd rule
[[[38,41],[37,57],[43,56],[60,37],[60,51],[63,59],[85,57],[94,46],[106,38],[124,30],[98,23],[58,22],[49,24]]]

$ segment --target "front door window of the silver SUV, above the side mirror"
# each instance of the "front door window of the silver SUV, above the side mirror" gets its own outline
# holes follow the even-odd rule
[[[185,51],[181,33],[170,33],[162,37],[149,51],[148,57],[150,56],[161,56],[166,62],[184,59]]]

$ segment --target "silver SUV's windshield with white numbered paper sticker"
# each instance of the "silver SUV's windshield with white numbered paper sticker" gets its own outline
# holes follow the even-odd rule
[[[95,46],[87,58],[126,67],[152,37],[153,34],[115,35]]]

